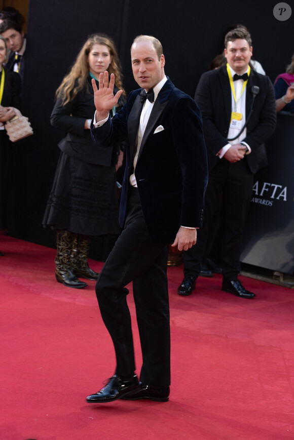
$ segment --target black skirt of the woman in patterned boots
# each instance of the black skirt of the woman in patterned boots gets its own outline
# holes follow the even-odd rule
[[[61,152],[43,226],[86,235],[118,235],[115,166],[88,164]]]

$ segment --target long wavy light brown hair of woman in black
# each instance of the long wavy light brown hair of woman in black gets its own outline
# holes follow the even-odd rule
[[[80,50],[76,61],[72,64],[69,73],[67,73],[60,86],[56,90],[56,98],[62,98],[63,104],[67,104],[74,99],[78,92],[80,92],[88,84],[89,76],[89,62],[88,56],[95,44],[107,46],[109,53],[112,55],[112,61],[108,67],[109,75],[115,74],[116,86],[123,90],[123,94],[126,92],[122,85],[122,73],[121,63],[118,57],[118,53],[112,38],[109,38],[103,33],[93,33],[90,35]]]

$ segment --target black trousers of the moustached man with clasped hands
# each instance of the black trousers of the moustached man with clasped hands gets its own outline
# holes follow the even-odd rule
[[[205,193],[203,228],[197,233],[197,243],[183,253],[184,274],[195,278],[200,273],[201,260],[205,254],[209,232],[213,227],[213,216],[222,207],[222,231],[220,243],[220,264],[223,276],[234,280],[240,272],[240,254],[244,225],[252,195],[253,174],[246,157],[231,164],[220,159],[209,172]]]

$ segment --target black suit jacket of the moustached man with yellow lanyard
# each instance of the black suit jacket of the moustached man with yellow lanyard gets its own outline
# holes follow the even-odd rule
[[[251,148],[251,153],[246,155],[245,159],[248,161],[250,171],[256,173],[267,165],[264,142],[276,126],[276,105],[270,78],[251,69],[246,86],[246,117],[253,100],[252,86],[258,86],[260,92],[254,99],[253,113],[247,125],[244,141]],[[228,143],[232,100],[226,66],[203,73],[196,89],[195,101],[202,113],[208,165],[211,170],[219,161],[216,153]]]

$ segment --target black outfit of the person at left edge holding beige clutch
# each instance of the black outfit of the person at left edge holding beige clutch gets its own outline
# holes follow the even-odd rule
[[[2,69],[5,69],[2,66]],[[1,82],[2,72],[0,72]],[[5,69],[1,105],[20,107],[21,80],[18,73]],[[16,224],[16,144],[10,142],[6,130],[0,130],[0,230]]]

